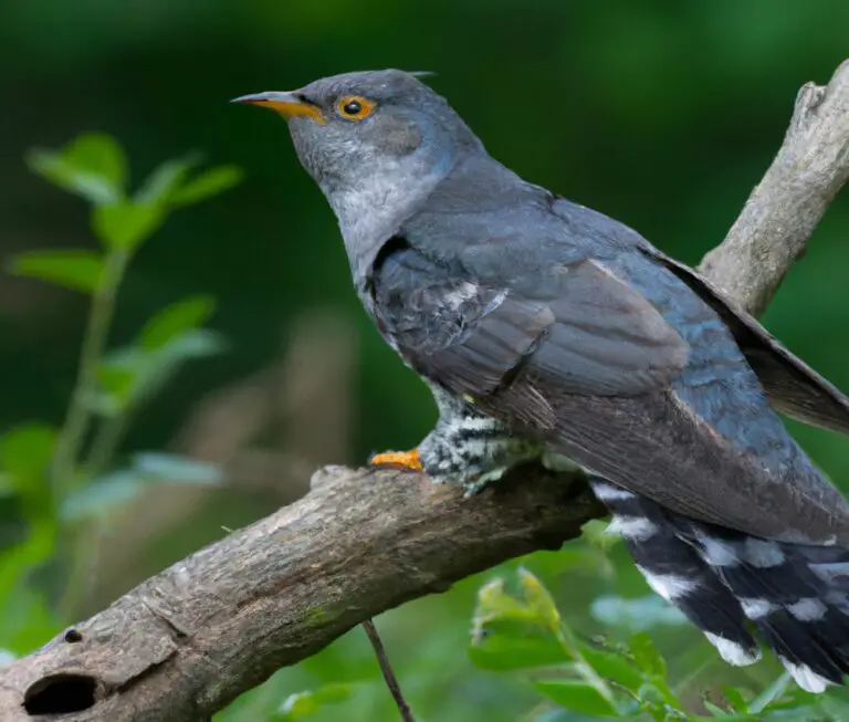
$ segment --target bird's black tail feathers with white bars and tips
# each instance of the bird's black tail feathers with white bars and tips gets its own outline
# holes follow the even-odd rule
[[[799,687],[821,692],[849,674],[849,550],[773,542],[663,509],[608,481],[593,491],[649,586],[699,627],[731,665],[761,651]]]

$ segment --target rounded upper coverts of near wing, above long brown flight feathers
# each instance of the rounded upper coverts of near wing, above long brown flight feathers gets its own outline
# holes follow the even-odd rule
[[[376,274],[377,307],[402,355],[455,394],[492,394],[536,359],[562,393],[633,396],[686,365],[688,345],[639,293],[602,265],[558,270],[558,293],[536,296],[447,274],[412,249]]]

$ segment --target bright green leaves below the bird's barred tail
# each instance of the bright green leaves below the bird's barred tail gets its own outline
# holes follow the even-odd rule
[[[524,568],[516,576],[520,590],[515,595],[505,589],[502,578],[481,587],[470,656],[484,669],[518,673],[545,698],[548,703],[542,705],[536,722],[559,719],[552,705],[583,715],[564,720],[837,722],[849,713],[847,703],[789,686],[786,673],[758,697],[725,687],[719,701],[688,703],[674,690],[667,662],[646,632],[617,645],[579,640],[542,582]]]

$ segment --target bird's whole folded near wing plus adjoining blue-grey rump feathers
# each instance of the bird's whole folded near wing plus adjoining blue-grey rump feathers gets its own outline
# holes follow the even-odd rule
[[[378,325],[431,381],[674,511],[771,538],[849,541],[839,492],[706,304],[690,303],[703,317],[686,322],[708,328],[693,345],[601,263],[537,271],[533,283],[503,281],[522,275],[506,269],[483,281],[400,247],[375,270]]]

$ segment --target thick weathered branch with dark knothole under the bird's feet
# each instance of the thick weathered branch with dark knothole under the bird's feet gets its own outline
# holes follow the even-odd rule
[[[604,513],[579,479],[513,475],[464,500],[420,474],[319,471],[301,501],[9,667],[0,719],[67,710],[77,695],[93,707],[63,722],[202,719],[364,619],[518,554],[557,548]]]

